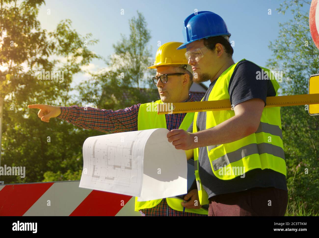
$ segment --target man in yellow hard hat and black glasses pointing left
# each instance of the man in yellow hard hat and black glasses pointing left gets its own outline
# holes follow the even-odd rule
[[[56,107],[50,105],[28,105],[38,108],[42,121],[49,122],[57,117],[73,125],[103,131],[105,133],[119,133],[127,131],[145,130],[152,128],[184,129],[191,125],[194,113],[178,113],[158,115],[159,103],[192,102],[194,97],[189,93],[192,84],[192,69],[185,58],[186,50],[176,50],[181,42],[168,42],[159,47],[156,52],[154,65],[149,69],[157,69],[152,77],[154,85],[159,91],[160,100],[137,104],[117,111],[97,109],[92,107]],[[99,123],[96,123],[99,122]],[[163,198],[152,201],[138,202],[135,199],[135,211],[143,216],[206,216],[207,210],[197,205],[197,189],[191,190],[184,198]],[[197,206],[196,206],[197,205]]]

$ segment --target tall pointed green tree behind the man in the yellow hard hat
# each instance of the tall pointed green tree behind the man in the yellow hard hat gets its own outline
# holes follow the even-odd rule
[[[117,110],[137,103],[159,99],[152,83],[150,30],[142,13],[129,20],[130,36],[113,44],[114,54],[106,61],[108,69],[92,74],[92,79],[78,87],[80,100],[97,108]],[[94,95],[90,97],[90,95]]]

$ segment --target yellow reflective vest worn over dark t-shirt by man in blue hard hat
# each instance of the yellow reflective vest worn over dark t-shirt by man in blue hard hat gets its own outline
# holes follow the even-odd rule
[[[241,61],[243,60],[245,59]],[[208,101],[230,99],[228,85],[237,64],[238,62],[219,76],[209,94]],[[271,80],[276,96],[278,96],[279,84],[272,75],[270,77],[269,69],[260,68],[268,75],[268,80]],[[195,112],[193,133],[197,132],[197,115],[198,112]],[[206,129],[219,125],[234,115],[234,110],[206,112]],[[208,204],[209,201],[198,173],[198,151],[198,148],[194,149],[195,176],[200,204],[204,205]],[[233,179],[257,168],[272,169],[286,175],[280,107],[263,109],[260,124],[255,133],[230,143],[207,146],[207,153],[213,174],[219,179]]]

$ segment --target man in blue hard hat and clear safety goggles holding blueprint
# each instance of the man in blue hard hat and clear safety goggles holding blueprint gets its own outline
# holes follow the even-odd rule
[[[186,48],[193,81],[211,82],[202,101],[232,105],[196,112],[188,132],[167,134],[175,148],[193,149],[200,204],[209,204],[209,216],[283,216],[288,194],[280,108],[265,107],[266,97],[278,96],[278,82],[269,69],[233,61],[231,34],[213,12],[189,15],[183,35],[177,49]]]

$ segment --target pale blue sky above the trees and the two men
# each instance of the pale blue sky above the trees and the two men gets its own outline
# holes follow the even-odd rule
[[[283,1],[275,0],[224,0],[224,1],[101,1],[101,0],[47,0],[39,11],[38,19],[42,28],[53,31],[60,20],[69,18],[72,26],[81,35],[92,33],[92,38],[100,42],[89,48],[104,56],[113,54],[112,44],[121,39],[120,34],[129,35],[128,21],[140,11],[145,16],[151,30],[152,54],[155,56],[157,42],[183,41],[182,27],[184,19],[194,9],[212,11],[219,14],[232,34],[234,40],[234,61],[243,58],[264,66],[271,58],[269,41],[278,36],[278,22],[292,18],[290,12],[278,14],[276,8]],[[308,7],[307,7],[308,8]],[[308,9],[305,8],[305,11]],[[47,14],[50,9],[50,15]],[[121,15],[124,9],[124,15]],[[271,9],[271,15],[268,14]],[[93,61],[87,67],[90,70],[105,67],[103,61]],[[78,74],[74,83],[87,79]],[[205,83],[208,85],[209,83]]]

